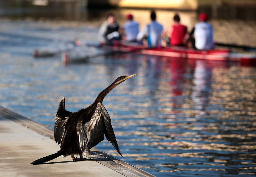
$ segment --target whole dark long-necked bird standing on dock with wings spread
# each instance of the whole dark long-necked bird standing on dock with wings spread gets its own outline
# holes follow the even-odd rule
[[[72,159],[75,160],[74,155],[79,154],[80,160],[83,160],[82,153],[89,154],[89,149],[103,141],[104,135],[122,156],[111,125],[111,119],[102,102],[110,90],[134,75],[117,78],[98,95],[92,105],[77,112],[67,111],[65,98],[62,98],[56,112],[54,127],[54,138],[56,143],[58,142],[60,145],[60,150],[55,154],[35,160],[31,164],[41,164],[61,155],[64,157],[71,155]]]

